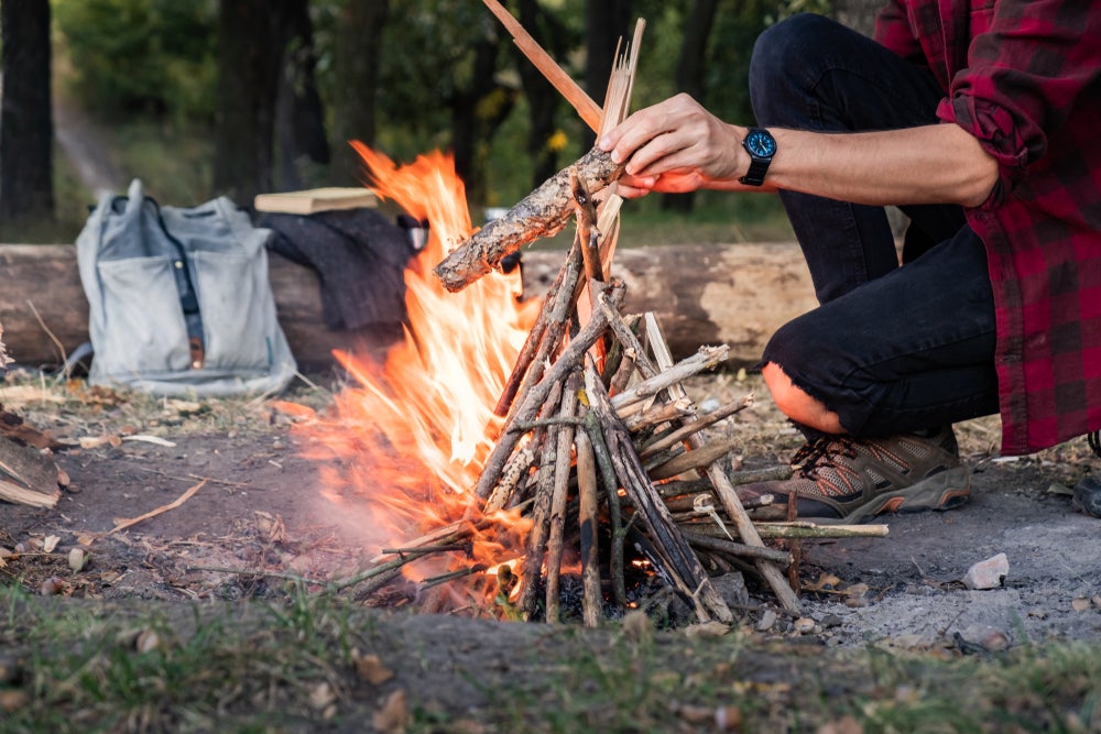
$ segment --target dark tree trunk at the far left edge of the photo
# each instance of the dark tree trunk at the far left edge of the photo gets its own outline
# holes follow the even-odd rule
[[[53,219],[50,2],[0,3],[0,229]]]

